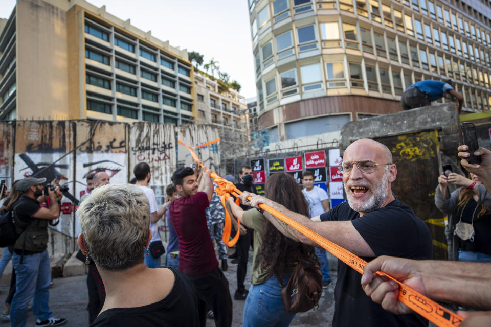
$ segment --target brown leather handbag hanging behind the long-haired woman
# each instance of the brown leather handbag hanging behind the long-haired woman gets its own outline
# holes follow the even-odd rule
[[[288,312],[305,312],[319,309],[319,299],[322,295],[322,272],[319,261],[306,257],[299,259],[292,272],[288,284],[281,287],[281,298]]]

